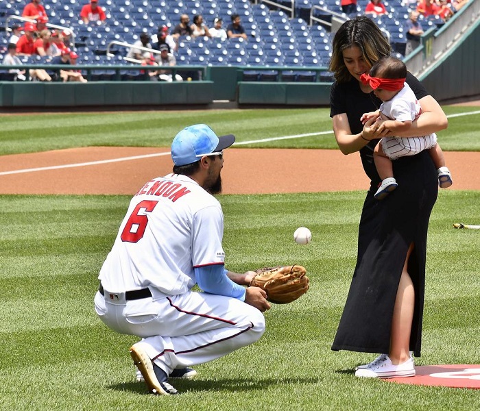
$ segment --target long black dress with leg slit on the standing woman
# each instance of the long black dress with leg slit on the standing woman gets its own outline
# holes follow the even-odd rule
[[[413,75],[407,83],[418,100],[428,95]],[[360,117],[377,110],[381,101],[361,91],[352,79],[331,89],[331,116],[346,113],[352,133],[361,132]],[[394,303],[409,245],[415,247],[408,263],[415,287],[415,310],[410,350],[420,356],[425,286],[425,258],[430,213],[437,199],[438,181],[428,153],[398,158],[393,162],[398,187],[382,201],[374,199],[380,183],[373,162],[372,140],[360,150],[365,173],[370,177],[359,225],[357,265],[332,349],[388,353]]]

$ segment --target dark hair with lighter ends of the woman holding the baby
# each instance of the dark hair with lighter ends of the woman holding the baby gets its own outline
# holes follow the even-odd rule
[[[338,83],[352,79],[343,54],[344,50],[350,47],[359,47],[363,59],[370,66],[383,56],[390,55],[392,51],[387,39],[370,18],[358,16],[346,21],[333,38],[332,58],[328,66],[328,70],[333,72]]]

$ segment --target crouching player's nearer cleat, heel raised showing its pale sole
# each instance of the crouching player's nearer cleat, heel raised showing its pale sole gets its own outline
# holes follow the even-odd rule
[[[130,347],[130,356],[132,356],[134,364],[143,375],[150,393],[156,395],[178,395],[178,391],[167,382],[167,373],[150,360],[147,352],[138,343]]]

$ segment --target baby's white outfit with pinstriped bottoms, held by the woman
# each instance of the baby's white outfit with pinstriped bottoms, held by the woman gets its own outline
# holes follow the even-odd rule
[[[422,114],[420,103],[407,83],[393,99],[382,103],[380,111],[389,119],[398,121],[414,121]],[[432,133],[416,137],[383,137],[381,144],[383,152],[388,158],[395,160],[404,155],[415,155],[420,151],[435,147],[437,136]]]

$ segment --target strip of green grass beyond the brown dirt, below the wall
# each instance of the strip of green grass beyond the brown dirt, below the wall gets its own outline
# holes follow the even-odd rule
[[[480,151],[480,114],[472,114],[473,109],[444,106],[446,114],[470,113],[449,119],[448,129],[438,133],[444,150]],[[28,113],[1,120],[0,155],[88,146],[169,147],[180,129],[196,123],[210,125],[218,135],[234,133],[237,142],[332,130],[329,108]],[[238,147],[338,149],[332,133]]]

